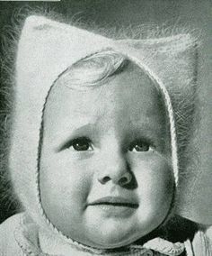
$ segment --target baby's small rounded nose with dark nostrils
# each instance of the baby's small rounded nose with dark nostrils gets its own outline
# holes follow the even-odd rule
[[[120,153],[111,153],[110,157],[104,156],[102,170],[98,172],[98,181],[106,184],[111,181],[121,187],[126,186],[132,180],[132,174],[128,168],[128,161]]]

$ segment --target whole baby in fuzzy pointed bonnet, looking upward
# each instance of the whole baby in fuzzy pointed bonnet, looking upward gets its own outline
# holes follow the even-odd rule
[[[0,255],[211,255],[175,212],[194,53],[187,34],[114,41],[27,19],[9,158],[24,212],[0,226]]]

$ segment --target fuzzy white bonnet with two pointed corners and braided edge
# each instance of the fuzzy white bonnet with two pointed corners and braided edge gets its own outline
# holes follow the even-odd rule
[[[183,138],[178,123],[187,118],[190,122],[186,109],[192,104],[190,98],[195,91],[196,50],[190,35],[114,41],[65,23],[30,16],[23,26],[17,51],[9,165],[14,191],[22,206],[37,224],[53,232],[60,233],[41,206],[38,168],[40,125],[46,98],[64,70],[86,56],[108,49],[135,62],[159,86],[170,126],[172,171],[179,187],[178,144]]]

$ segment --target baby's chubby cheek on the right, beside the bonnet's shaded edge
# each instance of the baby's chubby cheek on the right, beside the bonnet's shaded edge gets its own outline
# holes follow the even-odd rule
[[[154,157],[143,160],[140,164],[137,161],[135,169],[142,215],[146,215],[146,219],[155,219],[155,222],[163,221],[172,205],[172,168],[167,160]]]

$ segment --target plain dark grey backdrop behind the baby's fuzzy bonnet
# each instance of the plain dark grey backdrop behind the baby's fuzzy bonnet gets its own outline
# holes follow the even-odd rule
[[[85,23],[105,26],[128,26],[141,23],[181,23],[200,31],[199,47],[199,105],[202,120],[200,123],[199,146],[201,175],[195,181],[196,187],[187,215],[194,221],[212,224],[212,2],[209,0],[69,0],[61,2],[0,2],[0,32],[4,25],[11,24],[11,15],[16,8],[24,5],[46,6],[61,14],[81,17]],[[4,99],[1,98],[3,101]],[[189,187],[193,180],[189,181]],[[0,208],[0,222],[11,215],[13,206]],[[199,217],[201,215],[201,218]]]

